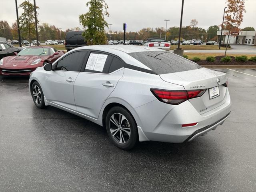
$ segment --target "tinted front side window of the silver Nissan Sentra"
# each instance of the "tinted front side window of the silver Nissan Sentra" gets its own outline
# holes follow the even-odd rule
[[[58,61],[56,70],[79,72],[85,56],[86,51],[72,52]]]

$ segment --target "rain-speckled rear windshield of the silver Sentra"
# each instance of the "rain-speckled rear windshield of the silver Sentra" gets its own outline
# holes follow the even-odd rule
[[[198,64],[167,51],[128,53],[156,74],[167,74],[202,68]]]

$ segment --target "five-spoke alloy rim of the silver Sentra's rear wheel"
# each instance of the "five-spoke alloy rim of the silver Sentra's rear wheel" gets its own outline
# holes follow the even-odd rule
[[[131,136],[131,128],[127,118],[123,114],[112,114],[109,120],[109,127],[110,133],[116,142],[120,144],[128,142]]]

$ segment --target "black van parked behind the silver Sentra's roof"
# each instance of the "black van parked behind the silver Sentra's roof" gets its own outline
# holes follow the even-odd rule
[[[69,31],[65,37],[65,48],[67,51],[70,51],[77,47],[86,46],[87,42],[84,40],[82,33],[84,31]]]

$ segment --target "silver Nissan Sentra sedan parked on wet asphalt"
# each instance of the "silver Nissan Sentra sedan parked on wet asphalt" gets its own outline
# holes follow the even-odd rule
[[[104,126],[124,150],[137,140],[181,143],[215,130],[230,116],[227,86],[225,73],[126,45],[75,48],[29,79],[38,108],[54,106]]]

